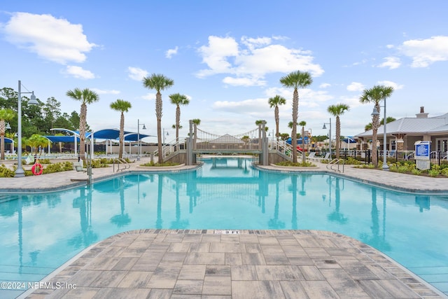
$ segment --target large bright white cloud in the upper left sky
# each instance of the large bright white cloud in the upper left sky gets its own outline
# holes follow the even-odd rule
[[[59,64],[84,62],[96,46],[87,41],[82,25],[52,15],[13,13],[1,29],[10,43]]]

